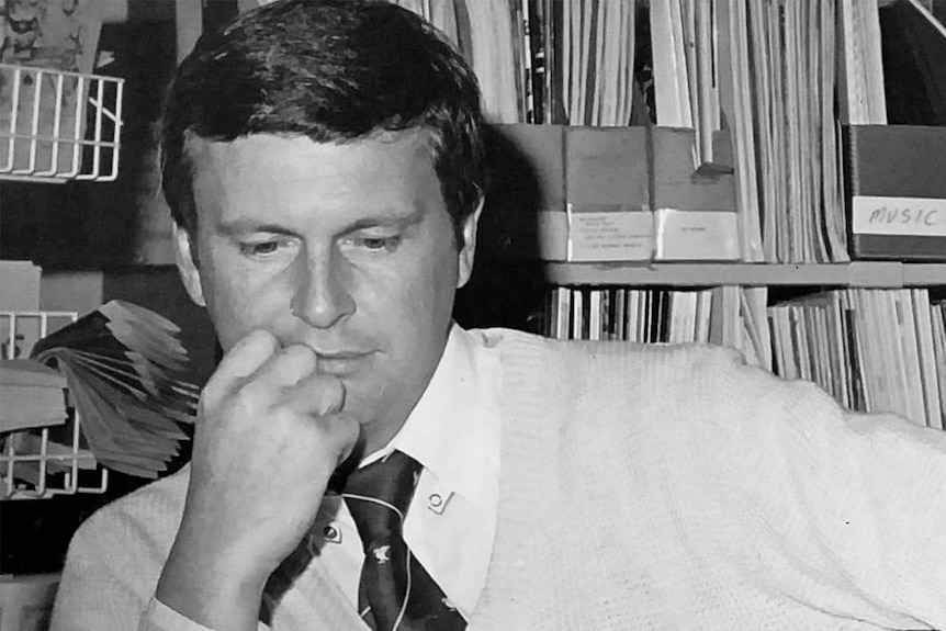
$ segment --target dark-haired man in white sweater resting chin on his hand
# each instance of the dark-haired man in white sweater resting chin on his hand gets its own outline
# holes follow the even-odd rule
[[[391,4],[198,44],[164,185],[226,354],[192,463],[77,533],[53,628],[946,628],[942,433],[723,349],[451,324],[480,135],[470,70]],[[409,504],[356,482],[406,460]]]

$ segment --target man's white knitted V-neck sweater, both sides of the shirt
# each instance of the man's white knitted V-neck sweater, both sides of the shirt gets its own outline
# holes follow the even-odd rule
[[[500,499],[471,631],[946,629],[946,433],[723,349],[486,335]],[[55,631],[138,624],[185,488],[183,471],[87,521]],[[273,628],[363,629],[317,562]]]

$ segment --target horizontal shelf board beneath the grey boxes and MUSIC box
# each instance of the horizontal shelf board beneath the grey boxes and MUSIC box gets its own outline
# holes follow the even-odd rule
[[[549,262],[544,270],[545,280],[556,285],[946,285],[946,263],[896,261],[832,264]]]

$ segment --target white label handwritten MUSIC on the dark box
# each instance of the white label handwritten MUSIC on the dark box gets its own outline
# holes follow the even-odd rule
[[[946,200],[855,195],[851,215],[855,235],[946,237]]]

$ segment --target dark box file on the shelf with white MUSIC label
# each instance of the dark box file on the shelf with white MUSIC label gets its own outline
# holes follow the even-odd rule
[[[946,260],[946,127],[842,128],[855,259]]]

